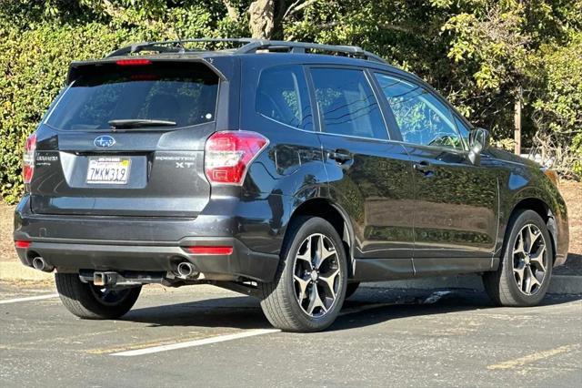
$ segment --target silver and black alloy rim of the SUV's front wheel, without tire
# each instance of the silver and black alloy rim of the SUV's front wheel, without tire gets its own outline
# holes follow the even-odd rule
[[[519,291],[534,295],[547,273],[547,247],[544,236],[534,224],[527,224],[517,234],[513,247],[513,275]]]

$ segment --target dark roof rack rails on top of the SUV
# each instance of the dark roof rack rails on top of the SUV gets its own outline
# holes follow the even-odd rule
[[[287,42],[284,40],[265,40],[251,38],[213,38],[202,37],[197,39],[166,40],[162,42],[142,42],[130,46],[121,47],[107,57],[125,56],[128,54],[139,53],[140,51],[156,51],[158,53],[186,53],[200,52],[201,49],[186,49],[185,43],[234,43],[241,45],[234,49],[234,54],[250,54],[257,51],[272,51],[286,53],[306,53],[312,51],[324,51],[326,53],[341,53],[346,56],[366,59],[370,61],[386,64],[386,61],[380,56],[376,56],[358,46],[336,46],[320,45],[306,42]]]

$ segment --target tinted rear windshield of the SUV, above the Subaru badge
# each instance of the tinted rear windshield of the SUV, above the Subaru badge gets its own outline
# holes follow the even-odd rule
[[[103,130],[112,120],[164,120],[181,128],[215,120],[218,77],[204,64],[81,67],[45,124]]]

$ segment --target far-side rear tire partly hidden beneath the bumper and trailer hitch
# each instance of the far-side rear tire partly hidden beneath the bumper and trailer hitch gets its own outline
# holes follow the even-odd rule
[[[76,273],[55,273],[56,291],[77,317],[85,320],[112,320],[125,315],[137,301],[141,286],[122,290],[100,288],[84,283]]]

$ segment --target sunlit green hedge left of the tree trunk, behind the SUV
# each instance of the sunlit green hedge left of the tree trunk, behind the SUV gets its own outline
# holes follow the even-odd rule
[[[150,13],[131,9],[107,18],[99,9],[91,12],[65,0],[28,0],[26,6],[4,1],[0,0],[0,198],[8,203],[22,193],[25,139],[64,86],[71,61],[100,58],[132,42],[245,34],[204,4],[176,7],[166,13],[165,23],[157,23],[147,19]]]

